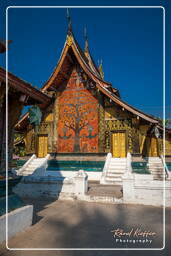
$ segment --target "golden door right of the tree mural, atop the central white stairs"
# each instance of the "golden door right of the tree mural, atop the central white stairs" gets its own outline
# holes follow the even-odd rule
[[[126,134],[118,131],[112,133],[112,155],[113,157],[126,157]]]

